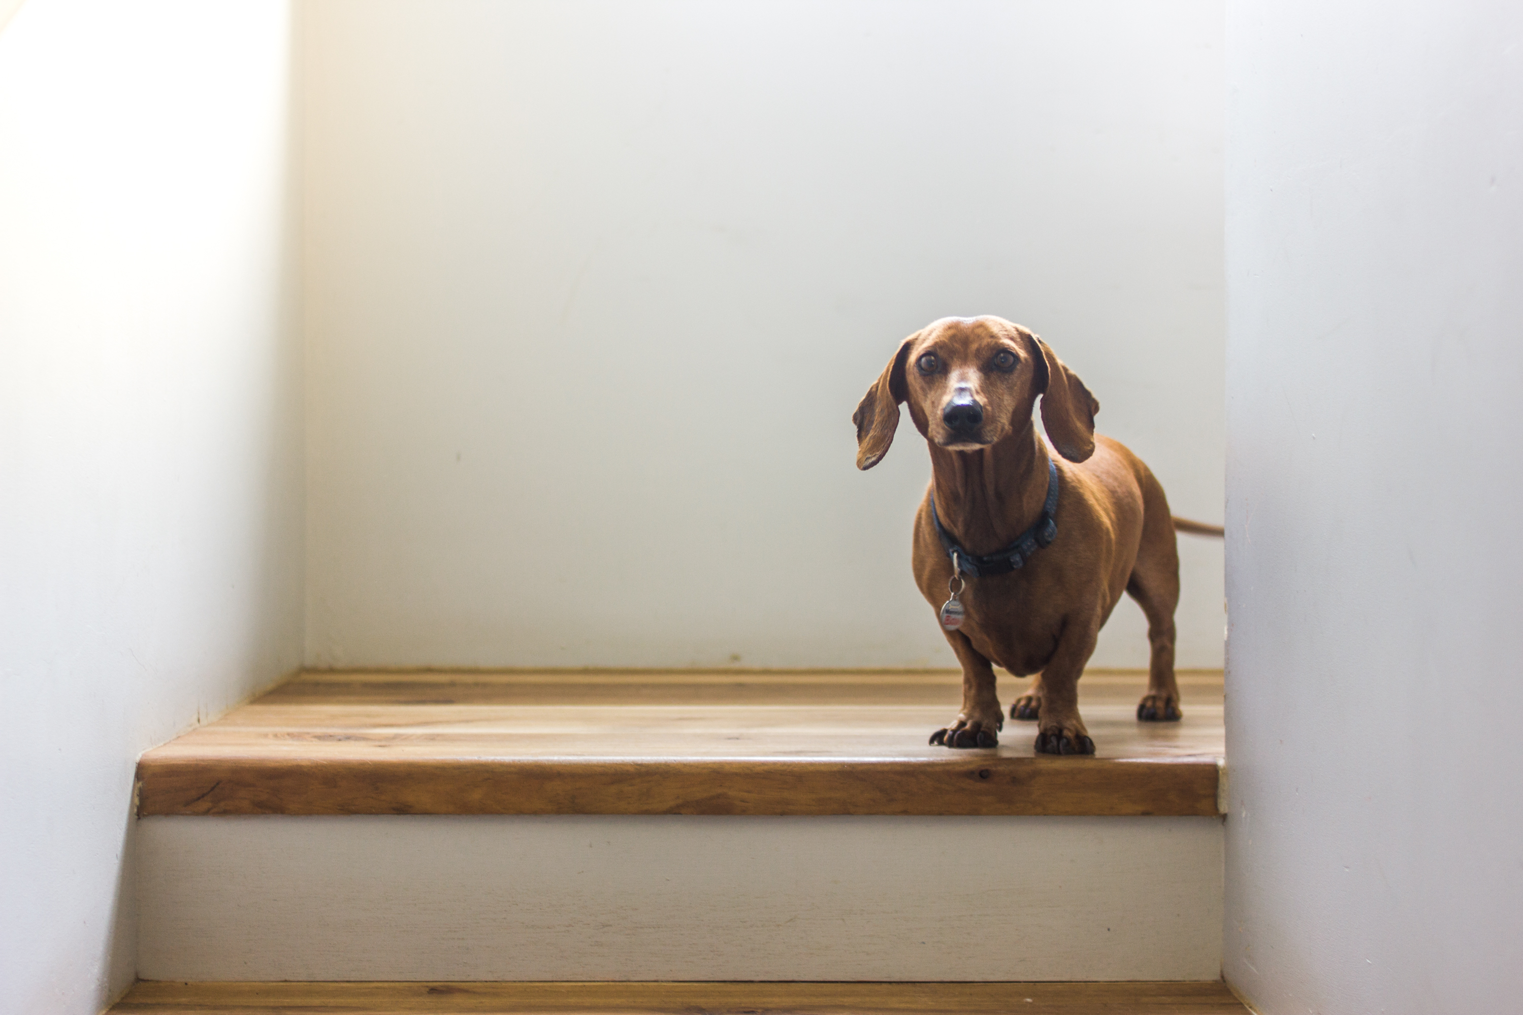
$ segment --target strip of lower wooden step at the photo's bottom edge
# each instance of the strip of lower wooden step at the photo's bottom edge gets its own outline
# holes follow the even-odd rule
[[[1246,1015],[1223,983],[137,983],[113,1012]]]

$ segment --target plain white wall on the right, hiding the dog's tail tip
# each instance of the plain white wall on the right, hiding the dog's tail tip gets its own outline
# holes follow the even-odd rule
[[[1226,975],[1523,995],[1523,8],[1235,5]]]

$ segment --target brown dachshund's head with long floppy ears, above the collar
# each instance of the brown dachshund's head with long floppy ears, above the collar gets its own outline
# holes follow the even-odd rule
[[[941,318],[900,344],[853,412],[857,469],[888,453],[900,402],[932,444],[978,450],[1031,426],[1037,396],[1057,452],[1069,461],[1089,458],[1100,402],[1046,342],[998,317]]]

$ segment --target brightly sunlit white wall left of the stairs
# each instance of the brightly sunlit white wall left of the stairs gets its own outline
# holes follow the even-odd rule
[[[0,35],[0,1010],[134,975],[137,755],[300,663],[283,2]]]

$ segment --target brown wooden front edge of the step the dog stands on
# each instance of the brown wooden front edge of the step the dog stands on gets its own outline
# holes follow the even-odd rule
[[[461,759],[145,755],[148,816],[1199,816],[1215,758]]]

